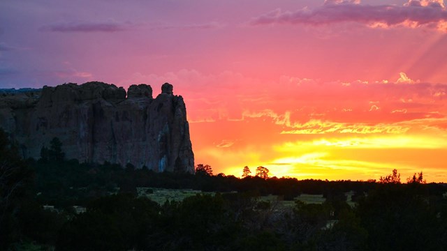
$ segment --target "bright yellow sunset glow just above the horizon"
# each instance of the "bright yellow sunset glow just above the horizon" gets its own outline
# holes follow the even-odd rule
[[[247,165],[251,175],[255,175],[256,167],[263,166],[270,170],[270,176],[305,178],[322,178],[329,180],[379,179],[392,169],[398,169],[402,177],[411,176],[414,172],[432,172],[432,181],[441,170],[436,167],[420,168],[419,160],[427,162],[431,155],[426,151],[446,151],[447,140],[444,137],[430,135],[367,135],[365,137],[323,137],[307,141],[284,142],[271,146],[270,151],[258,149],[208,149],[207,154],[214,158],[225,155],[227,166],[224,173],[240,177],[242,169]],[[414,155],[409,151],[416,151]],[[263,155],[267,153],[268,155]],[[414,158],[411,159],[411,158]],[[410,158],[406,162],[405,159]],[[402,160],[400,160],[402,159]],[[243,162],[244,165],[237,165]],[[426,163],[430,165],[430,163]],[[216,173],[217,174],[217,173]]]

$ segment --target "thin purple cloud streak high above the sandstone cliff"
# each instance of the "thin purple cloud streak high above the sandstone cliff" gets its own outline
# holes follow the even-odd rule
[[[42,31],[54,32],[117,32],[129,29],[129,24],[117,22],[70,22],[43,26]]]

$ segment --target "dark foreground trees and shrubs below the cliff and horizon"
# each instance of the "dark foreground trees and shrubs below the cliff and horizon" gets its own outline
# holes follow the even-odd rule
[[[64,160],[57,139],[40,160],[21,160],[0,131],[0,250],[446,250],[444,184],[396,170],[380,181],[298,181],[161,173]],[[215,192],[157,204],[137,187]],[[353,191],[356,206],[346,203]],[[288,208],[323,195],[323,204]],[[54,208],[45,206],[51,205]],[[44,209],[45,206],[45,209]],[[76,213],[73,206],[87,208]]]

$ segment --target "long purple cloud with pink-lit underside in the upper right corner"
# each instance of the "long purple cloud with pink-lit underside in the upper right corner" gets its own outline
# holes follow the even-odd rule
[[[273,10],[251,20],[252,25],[309,24],[322,25],[358,22],[370,26],[427,26],[447,31],[447,10],[436,1],[409,1],[404,6],[362,5],[360,1],[325,1],[323,6],[301,10]]]

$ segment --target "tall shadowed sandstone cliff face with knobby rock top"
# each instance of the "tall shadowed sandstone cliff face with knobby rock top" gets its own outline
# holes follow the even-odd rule
[[[59,137],[68,159],[193,172],[183,98],[168,83],[161,89],[156,98],[146,84],[127,93],[101,82],[0,91],[0,127],[20,144],[24,158],[39,158],[42,147]]]

